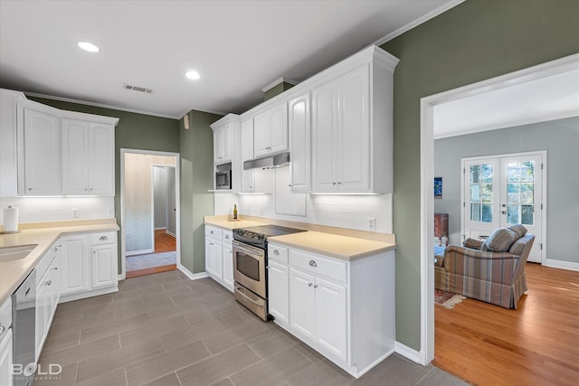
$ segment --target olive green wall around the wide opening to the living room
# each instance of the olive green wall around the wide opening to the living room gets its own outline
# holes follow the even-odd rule
[[[400,59],[394,71],[398,342],[421,348],[420,99],[579,52],[577,14],[575,0],[468,0],[381,46]]]

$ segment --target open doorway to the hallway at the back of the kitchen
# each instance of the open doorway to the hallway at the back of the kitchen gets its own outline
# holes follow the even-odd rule
[[[180,263],[178,154],[121,149],[122,278]]]

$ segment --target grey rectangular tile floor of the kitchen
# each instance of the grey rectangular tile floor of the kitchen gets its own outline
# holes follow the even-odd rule
[[[466,384],[397,354],[356,380],[210,278],[170,271],[119,288],[58,306],[40,363],[63,371],[34,386]]]

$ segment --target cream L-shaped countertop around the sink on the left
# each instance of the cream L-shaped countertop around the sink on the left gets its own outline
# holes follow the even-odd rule
[[[12,295],[24,278],[32,272],[44,253],[61,236],[73,233],[119,231],[115,219],[97,221],[67,221],[66,226],[47,223],[45,228],[24,229],[20,233],[0,235],[0,248],[16,245],[38,244],[24,259],[0,262],[0,304]]]

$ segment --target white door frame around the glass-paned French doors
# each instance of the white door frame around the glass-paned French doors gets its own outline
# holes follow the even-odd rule
[[[480,155],[480,156],[472,156],[472,157],[465,157],[465,158],[461,158],[460,159],[460,167],[462,169],[464,169],[464,165],[466,162],[468,161],[478,161],[478,160],[485,160],[485,159],[494,159],[494,158],[507,158],[507,157],[525,157],[528,155],[541,155],[541,159],[542,159],[542,163],[543,163],[543,169],[541,170],[541,202],[536,202],[536,204],[540,204],[541,206],[541,238],[540,240],[535,240],[536,243],[541,243],[543,244],[543,248],[541,249],[541,264],[544,264],[546,262],[546,219],[547,219],[547,213],[546,213],[546,164],[547,164],[547,160],[546,160],[546,150],[538,150],[538,151],[534,151],[534,152],[524,152],[524,153],[508,153],[508,154],[498,154],[498,155]],[[466,174],[462,173],[460,174],[460,199],[464,200],[465,198],[465,191],[464,191],[464,186],[465,186],[465,178],[466,178]],[[493,187],[494,189],[494,187]],[[467,213],[467,209],[464,206],[460,207],[460,234],[462,235],[462,239],[464,240],[464,238],[466,238],[466,232],[465,232],[465,216]]]

